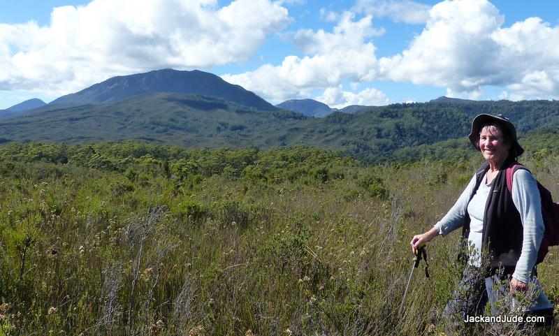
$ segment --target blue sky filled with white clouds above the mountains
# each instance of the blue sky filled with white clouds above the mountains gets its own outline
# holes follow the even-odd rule
[[[202,70],[270,103],[558,99],[559,1],[0,0],[0,109]]]

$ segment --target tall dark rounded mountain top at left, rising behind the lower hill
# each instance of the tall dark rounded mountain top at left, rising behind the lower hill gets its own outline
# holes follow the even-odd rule
[[[113,77],[74,94],[61,96],[50,105],[85,105],[122,101],[123,99],[154,92],[202,94],[231,101],[256,110],[273,111],[277,108],[253,92],[203,71],[164,69]]]

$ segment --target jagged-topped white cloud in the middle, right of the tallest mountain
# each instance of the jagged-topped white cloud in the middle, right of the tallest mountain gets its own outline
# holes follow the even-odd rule
[[[266,64],[222,78],[241,85],[275,102],[306,98],[317,89],[336,87],[341,82],[362,82],[377,76],[375,45],[368,41],[382,32],[372,26],[370,15],[354,20],[343,13],[333,31],[302,29],[293,41],[307,56],[288,56],[282,64]]]

